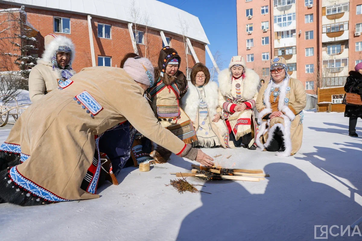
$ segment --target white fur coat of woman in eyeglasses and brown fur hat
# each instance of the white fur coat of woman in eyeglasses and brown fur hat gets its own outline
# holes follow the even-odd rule
[[[195,123],[194,127],[198,128],[199,125],[201,125],[198,118],[201,99],[199,98],[199,92],[197,90],[197,87],[194,86],[191,81],[188,82],[188,85],[189,89],[186,92],[185,96],[181,99],[181,108],[184,109],[186,114],[190,117],[190,120]],[[209,122],[211,124],[211,129],[218,136],[221,145],[225,147],[223,137],[227,132],[227,127],[221,119],[218,122],[212,121],[217,113],[216,109],[219,105],[218,89],[218,85],[215,82],[209,82],[204,85],[203,91],[205,91],[205,97],[203,98],[203,101],[207,105],[207,114]]]

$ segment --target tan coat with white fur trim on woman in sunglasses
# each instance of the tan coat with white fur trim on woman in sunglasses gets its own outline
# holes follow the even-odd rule
[[[256,143],[261,151],[267,148],[273,139],[275,129],[279,127],[283,133],[285,151],[278,152],[277,156],[294,155],[302,146],[302,110],[306,107],[306,90],[298,79],[286,78],[279,85],[274,86],[279,88],[280,93],[277,107],[272,109],[270,103],[271,83],[269,81],[268,84],[265,83],[261,87],[256,101],[256,108],[259,112],[258,121],[261,122]],[[273,111],[281,111],[283,115],[273,119],[263,119]]]

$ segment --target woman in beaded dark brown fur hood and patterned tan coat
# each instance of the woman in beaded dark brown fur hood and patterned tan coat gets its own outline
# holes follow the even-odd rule
[[[190,118],[180,108],[179,100],[188,89],[187,80],[180,70],[181,58],[177,51],[166,46],[161,49],[158,69],[155,69],[155,80],[148,89],[151,95],[152,108],[161,125],[170,130],[186,144],[197,140],[195,129]],[[171,151],[156,145],[151,157],[157,163],[165,163]]]

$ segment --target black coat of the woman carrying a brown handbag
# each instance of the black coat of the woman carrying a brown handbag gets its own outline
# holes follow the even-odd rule
[[[357,71],[350,71],[349,76],[347,77],[346,84],[344,86],[344,91],[349,92],[352,88],[352,93],[358,94],[362,88],[357,86],[362,83],[362,74]],[[345,117],[361,117],[362,118],[362,106],[346,106],[344,112]]]

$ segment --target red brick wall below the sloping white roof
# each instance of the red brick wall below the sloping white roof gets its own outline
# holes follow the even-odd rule
[[[8,5],[0,4],[0,9],[9,8]],[[16,7],[18,8],[18,7]],[[39,57],[44,51],[44,36],[53,32],[53,16],[70,18],[71,34],[55,33],[57,35],[64,35],[70,38],[76,47],[76,58],[73,61],[73,69],[79,72],[82,68],[92,66],[92,57],[90,53],[90,43],[88,34],[88,22],[87,16],[71,13],[62,13],[50,10],[25,8],[27,12],[28,21],[39,30],[37,38],[39,39]],[[97,25],[99,23],[105,23],[111,25],[111,39],[98,38],[97,36]],[[96,57],[96,64],[98,65],[97,56],[108,56],[111,57],[111,65],[119,67],[123,56],[126,53],[133,52],[132,42],[130,33],[128,30],[127,23],[115,22],[105,20],[101,18],[92,17],[92,30],[93,30],[93,44],[94,54]],[[142,28],[138,28],[144,31]],[[180,36],[165,34],[167,37],[171,37],[171,47],[175,48],[181,56],[180,70],[186,73],[186,61],[184,43]],[[147,36],[148,49],[145,53],[145,45],[138,44],[139,55],[147,57],[152,61],[154,66],[157,66],[157,60],[159,52],[162,48],[162,39],[159,31],[148,30]],[[205,64],[205,47],[203,44],[191,41],[194,46],[194,50],[197,54],[199,61]],[[192,55],[188,55],[189,68],[191,68],[195,61]]]

